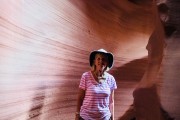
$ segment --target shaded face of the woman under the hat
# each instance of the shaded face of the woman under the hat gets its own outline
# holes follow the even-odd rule
[[[96,70],[105,71],[108,65],[108,58],[104,54],[97,53],[94,59]]]

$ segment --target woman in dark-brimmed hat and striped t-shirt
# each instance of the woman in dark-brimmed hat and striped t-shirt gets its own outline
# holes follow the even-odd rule
[[[107,71],[113,55],[104,49],[91,52],[91,70],[83,73],[79,85],[76,120],[114,120],[116,81]]]

